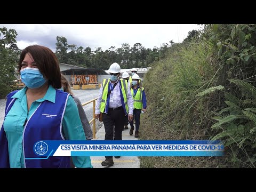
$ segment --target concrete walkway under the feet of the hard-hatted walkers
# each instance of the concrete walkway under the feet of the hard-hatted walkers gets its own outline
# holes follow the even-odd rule
[[[135,126],[135,125],[134,125]],[[130,125],[128,125],[129,129],[124,130],[122,132],[122,140],[138,140],[133,135],[130,135]],[[105,128],[104,125],[100,128],[100,130],[96,133],[96,139],[92,140],[105,140]],[[140,160],[135,156],[121,156],[120,158],[113,157],[114,165],[113,166],[102,166],[101,162],[105,160],[104,156],[95,156],[91,157],[91,162],[93,168],[140,168]]]

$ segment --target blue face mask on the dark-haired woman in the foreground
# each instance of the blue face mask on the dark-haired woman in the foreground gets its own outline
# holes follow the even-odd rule
[[[30,89],[36,89],[45,84],[46,80],[39,69],[26,67],[20,70],[21,81]]]

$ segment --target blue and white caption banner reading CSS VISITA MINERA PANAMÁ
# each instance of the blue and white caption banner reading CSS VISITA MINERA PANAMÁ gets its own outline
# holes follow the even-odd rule
[[[33,149],[32,149],[33,148]],[[35,156],[223,156],[221,141],[138,140],[138,141],[38,141],[31,146]]]

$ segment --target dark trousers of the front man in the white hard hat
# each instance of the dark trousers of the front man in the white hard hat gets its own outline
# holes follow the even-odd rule
[[[105,140],[122,140],[124,128],[124,109],[111,110],[108,114],[103,113],[103,124],[105,127]],[[106,156],[106,158],[113,158]]]

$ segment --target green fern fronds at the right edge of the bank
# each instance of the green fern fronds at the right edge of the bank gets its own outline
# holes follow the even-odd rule
[[[236,96],[224,91],[226,108],[221,109],[212,117],[216,122],[211,126],[219,132],[211,140],[222,140],[225,146],[241,149],[246,153],[247,161],[252,164],[249,156],[256,156],[256,87],[246,81],[230,79],[239,87],[240,93]],[[212,93],[218,89],[210,87],[197,95]],[[250,155],[246,150],[251,151]]]

